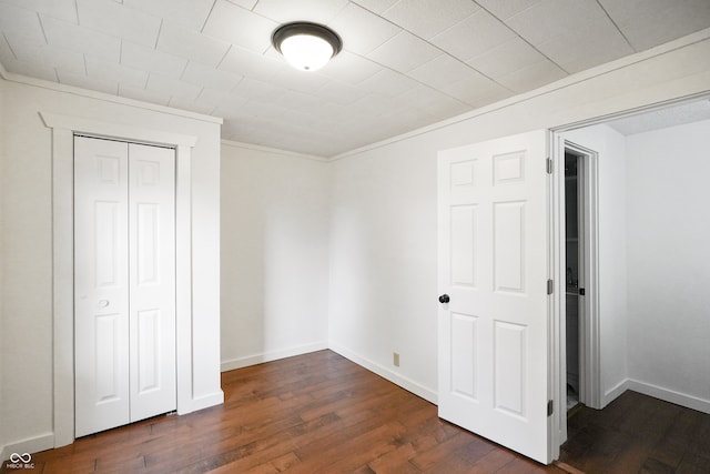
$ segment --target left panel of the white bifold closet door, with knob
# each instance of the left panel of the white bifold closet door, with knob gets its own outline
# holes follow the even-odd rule
[[[129,423],[128,147],[74,139],[75,435]]]

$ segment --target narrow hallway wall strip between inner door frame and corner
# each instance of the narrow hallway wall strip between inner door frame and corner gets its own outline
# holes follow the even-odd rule
[[[608,125],[562,135],[598,155],[599,340],[602,406],[628,377],[626,138]]]

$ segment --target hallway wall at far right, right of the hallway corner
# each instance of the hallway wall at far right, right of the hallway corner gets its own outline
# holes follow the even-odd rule
[[[627,138],[629,376],[710,412],[710,121]],[[641,386],[638,386],[638,385]]]

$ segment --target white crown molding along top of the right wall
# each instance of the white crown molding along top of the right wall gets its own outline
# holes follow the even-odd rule
[[[412,138],[415,138],[415,137],[418,137],[418,135],[423,135],[423,134],[426,134],[426,133],[429,133],[429,132],[433,132],[433,131],[436,131],[436,130],[439,130],[439,129],[445,129],[447,127],[455,125],[455,124],[460,123],[460,122],[465,122],[465,121],[474,119],[476,117],[485,115],[485,114],[488,114],[488,113],[491,113],[491,112],[495,112],[495,111],[498,111],[498,110],[506,109],[508,107],[518,104],[520,102],[526,102],[526,101],[528,101],[530,99],[535,99],[535,98],[538,98],[538,97],[547,95],[547,94],[556,92],[558,90],[566,89],[566,88],[571,87],[571,85],[592,80],[592,79],[598,78],[600,75],[605,75],[605,74],[608,74],[610,72],[627,68],[629,65],[633,65],[633,64],[647,61],[647,60],[649,60],[651,58],[656,58],[656,57],[660,57],[660,56],[667,54],[669,52],[672,52],[672,51],[676,51],[676,50],[679,50],[679,49],[682,49],[682,48],[699,43],[699,42],[704,41],[704,40],[707,40],[709,38],[710,38],[710,28],[706,28],[704,30],[697,31],[694,33],[688,34],[686,37],[679,38],[679,39],[673,40],[673,41],[669,41],[667,43],[663,43],[663,44],[660,44],[658,47],[651,48],[649,50],[641,51],[641,52],[638,52],[636,54],[626,56],[623,58],[617,59],[617,60],[611,61],[611,62],[606,62],[606,63],[597,65],[595,68],[586,69],[586,70],[584,70],[581,72],[577,72],[575,74],[568,75],[566,78],[562,78],[562,79],[560,79],[558,81],[555,81],[552,83],[542,85],[541,88],[531,90],[529,92],[525,92],[525,93],[521,93],[521,94],[513,95],[513,97],[510,97],[508,99],[504,99],[501,101],[491,103],[489,105],[481,107],[481,108],[473,110],[470,112],[466,112],[466,113],[463,113],[460,115],[456,115],[456,117],[453,117],[450,119],[446,119],[446,120],[443,120],[440,122],[433,123],[430,125],[422,127],[419,129],[416,129],[416,130],[413,130],[413,131],[409,131],[409,132],[406,132],[406,133],[403,133],[403,134],[399,134],[399,135],[396,135],[396,137],[392,137],[392,138],[388,138],[388,139],[375,142],[375,143],[371,143],[371,144],[367,144],[365,147],[357,148],[355,150],[349,150],[349,151],[336,154],[334,157],[331,157],[329,161],[337,161],[337,160],[341,160],[341,159],[344,159],[344,158],[353,157],[353,155],[361,154],[361,153],[364,153],[364,152],[367,152],[367,151],[371,151],[371,150],[383,148],[383,147],[386,147],[386,145],[389,145],[389,144],[393,144],[393,143],[397,143],[397,142],[400,142],[400,141],[404,141],[404,140],[408,140],[408,139],[412,139]],[[604,118],[599,118],[598,120],[599,121],[606,121],[606,120],[609,120],[609,118],[608,117],[604,117]],[[546,125],[545,128],[556,129],[559,125],[564,125],[564,124]],[[571,127],[571,124],[569,127]]]

